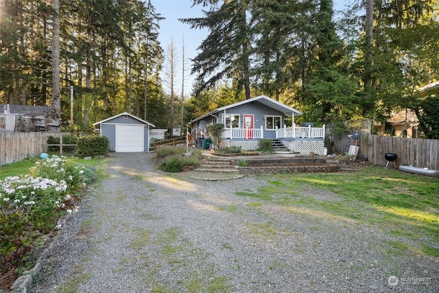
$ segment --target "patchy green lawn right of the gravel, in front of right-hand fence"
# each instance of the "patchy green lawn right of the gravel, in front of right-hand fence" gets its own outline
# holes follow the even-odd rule
[[[268,186],[237,195],[267,200],[292,213],[312,212],[326,220],[381,225],[393,235],[414,242],[425,237],[427,242],[439,241],[439,178],[364,167],[359,172],[277,174],[265,179]],[[303,189],[330,191],[333,196],[303,195]],[[439,254],[430,246],[418,251]]]

